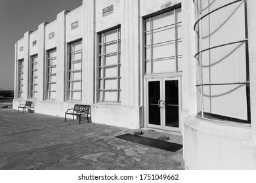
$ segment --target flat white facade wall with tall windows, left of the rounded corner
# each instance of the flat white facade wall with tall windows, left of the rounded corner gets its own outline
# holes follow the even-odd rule
[[[24,44],[23,54],[18,52],[17,56],[18,59],[23,56],[26,62],[24,65],[24,71],[26,71],[24,88],[27,88],[28,91],[26,91],[27,94],[23,99],[14,99],[13,108],[17,108],[20,103],[29,99],[35,103],[35,112],[63,117],[67,108],[72,108],[75,103],[83,103],[91,105],[93,122],[134,129],[144,127],[143,17],[179,3],[182,1],[83,1],[81,7],[71,12],[64,10],[57,15],[53,22],[41,24],[38,30],[26,33],[23,39],[28,41],[28,44],[18,41],[16,46],[18,48]],[[186,3],[182,3],[182,8],[183,4],[185,8]],[[102,16],[102,9],[110,5],[114,6],[114,12],[108,16]],[[183,14],[186,16],[185,12]],[[72,29],[72,24],[77,21],[78,27]],[[186,20],[184,22],[186,24]],[[97,33],[116,25],[121,26],[121,103],[96,103]],[[186,29],[186,25],[184,27]],[[54,37],[51,35],[50,39],[51,33],[54,33]],[[184,33],[186,34],[185,30]],[[192,35],[186,34],[184,42],[191,39],[186,37],[192,37]],[[66,92],[68,89],[68,72],[66,71],[68,67],[68,43],[79,39],[82,39],[83,46],[83,96],[81,101],[68,101]],[[35,40],[37,40],[37,45],[32,46]],[[56,76],[58,82],[56,93],[58,97],[55,100],[49,100],[46,99],[45,95],[45,90],[47,90],[45,60],[47,59],[46,51],[53,48],[57,49]],[[30,99],[28,94],[30,90],[28,64],[30,56],[34,54],[39,54],[39,97]],[[187,56],[184,54],[184,57]],[[188,67],[187,63],[184,61],[184,68]],[[186,80],[182,79],[182,86],[184,88],[187,86]],[[182,90],[183,95],[187,95],[186,90]],[[184,103],[182,111],[187,116],[188,105],[185,101],[182,101],[182,104]]]

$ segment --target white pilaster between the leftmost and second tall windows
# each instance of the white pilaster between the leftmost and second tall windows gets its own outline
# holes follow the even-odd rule
[[[30,34],[32,31],[24,33],[24,75],[23,75],[23,99],[30,99]]]

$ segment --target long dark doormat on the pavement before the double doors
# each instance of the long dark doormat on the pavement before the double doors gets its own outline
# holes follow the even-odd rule
[[[116,136],[116,138],[131,141],[131,142],[136,142],[139,144],[144,144],[146,146],[159,148],[161,150],[167,150],[167,151],[171,151],[171,152],[177,152],[177,150],[180,150],[182,148],[181,144],[160,141],[157,139],[150,139],[148,137],[140,137],[137,135],[131,135],[129,133]]]

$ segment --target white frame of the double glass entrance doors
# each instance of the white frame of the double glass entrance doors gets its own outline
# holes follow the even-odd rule
[[[161,115],[161,125],[153,125],[149,124],[148,122],[148,82],[150,81],[160,81],[160,99],[165,99],[165,80],[178,80],[179,84],[179,127],[167,127],[165,126],[165,109],[161,108],[160,115]],[[152,127],[156,129],[163,129],[167,131],[177,131],[181,132],[181,76],[150,76],[144,78],[144,126],[145,127]]]

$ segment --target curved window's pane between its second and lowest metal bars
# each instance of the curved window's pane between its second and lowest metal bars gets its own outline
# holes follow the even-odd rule
[[[203,52],[203,82],[244,82],[246,80],[245,42]]]

